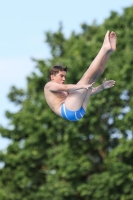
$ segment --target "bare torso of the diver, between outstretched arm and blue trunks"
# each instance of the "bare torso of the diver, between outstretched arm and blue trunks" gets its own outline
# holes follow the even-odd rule
[[[68,93],[65,91],[60,92],[52,92],[47,88],[47,85],[44,87],[44,95],[47,104],[49,107],[59,116],[60,113],[60,106],[66,100]]]

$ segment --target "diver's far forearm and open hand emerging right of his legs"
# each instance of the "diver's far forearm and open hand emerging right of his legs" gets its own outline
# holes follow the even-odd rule
[[[114,86],[114,84],[115,84],[115,81],[114,81],[114,80],[106,81],[106,78],[105,78],[105,79],[103,80],[103,82],[102,82],[102,85],[99,85],[99,86],[97,86],[97,87],[95,87],[95,88],[92,89],[91,95],[97,94],[97,93],[101,92],[101,91],[104,90],[104,89],[111,88],[111,87]]]

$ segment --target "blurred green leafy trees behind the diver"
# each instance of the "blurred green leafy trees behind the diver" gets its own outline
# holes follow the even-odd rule
[[[68,39],[61,25],[56,33],[46,33],[51,58],[34,60],[39,73],[27,78],[26,91],[12,87],[8,95],[18,111],[7,111],[9,125],[0,127],[12,141],[0,152],[1,200],[132,200],[132,13],[130,7],[122,15],[112,12],[101,26],[82,24],[82,33]],[[67,82],[76,83],[107,30],[117,33],[117,51],[97,84],[106,77],[116,81],[115,87],[92,96],[79,122],[56,116],[43,94],[50,67],[68,66]]]

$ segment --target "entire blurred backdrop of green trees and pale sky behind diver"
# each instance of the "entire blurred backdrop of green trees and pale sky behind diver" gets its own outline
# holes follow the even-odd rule
[[[0,27],[0,200],[132,200],[133,0],[5,0]],[[108,29],[115,87],[76,124],[57,117],[43,94],[49,68],[69,66],[76,83]]]

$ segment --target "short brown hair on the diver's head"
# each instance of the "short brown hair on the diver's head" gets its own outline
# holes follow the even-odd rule
[[[55,65],[53,67],[51,67],[50,71],[49,71],[49,79],[51,80],[51,75],[56,75],[58,74],[60,71],[65,71],[67,72],[68,67],[63,67],[61,65]]]

